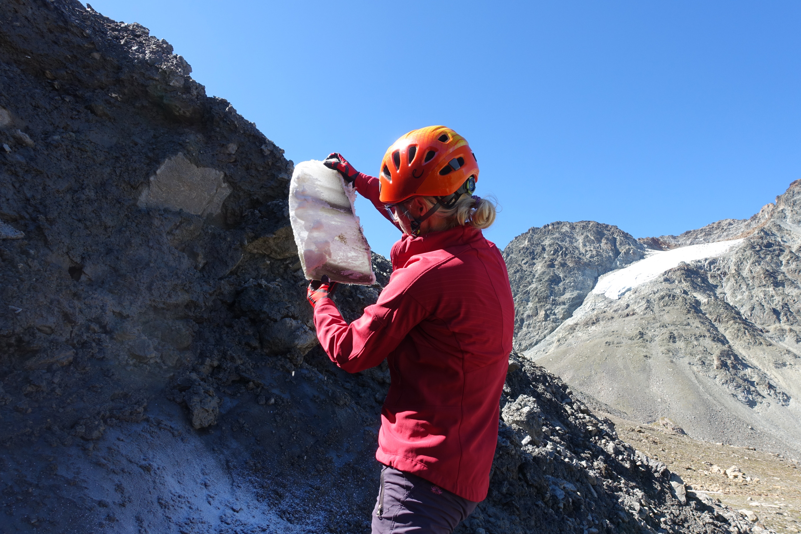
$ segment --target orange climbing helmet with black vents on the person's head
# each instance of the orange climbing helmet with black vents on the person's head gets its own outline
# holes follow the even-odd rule
[[[472,195],[478,163],[461,135],[445,126],[426,126],[392,143],[378,177],[379,199],[386,204],[415,195],[445,197],[463,186],[467,188],[464,192]]]

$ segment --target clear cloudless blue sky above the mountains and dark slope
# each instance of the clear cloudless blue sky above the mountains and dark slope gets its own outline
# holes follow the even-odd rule
[[[445,124],[503,211],[635,237],[742,219],[801,178],[801,2],[95,0],[166,38],[296,163],[375,175]],[[357,205],[372,248],[396,230]]]

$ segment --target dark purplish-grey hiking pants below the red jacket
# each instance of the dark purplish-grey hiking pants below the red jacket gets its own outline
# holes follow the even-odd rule
[[[372,534],[450,534],[477,504],[385,465],[372,511]]]

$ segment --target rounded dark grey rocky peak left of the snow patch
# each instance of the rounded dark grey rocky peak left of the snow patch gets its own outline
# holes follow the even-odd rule
[[[525,351],[582,305],[598,276],[642,259],[646,247],[608,224],[551,223],[503,251],[515,304],[515,348]]]

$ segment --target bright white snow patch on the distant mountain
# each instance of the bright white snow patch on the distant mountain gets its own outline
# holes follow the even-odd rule
[[[649,251],[646,258],[632,263],[618,271],[602,275],[593,289],[596,295],[605,295],[617,300],[632,287],[650,282],[663,272],[678,267],[679,263],[690,263],[698,259],[716,258],[739,247],[743,239],[702,243],[689,247],[674,248],[671,251]]]

